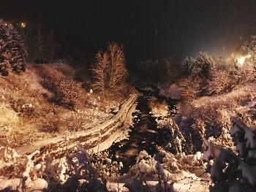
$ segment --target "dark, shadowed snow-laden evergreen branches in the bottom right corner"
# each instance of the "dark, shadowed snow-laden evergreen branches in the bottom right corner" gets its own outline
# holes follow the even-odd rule
[[[211,179],[214,181],[212,190],[218,191],[254,191],[256,185],[256,132],[247,127],[238,118],[231,118],[233,127],[230,135],[236,145],[236,153],[230,149],[216,147],[204,140],[202,148],[203,160],[209,164]]]

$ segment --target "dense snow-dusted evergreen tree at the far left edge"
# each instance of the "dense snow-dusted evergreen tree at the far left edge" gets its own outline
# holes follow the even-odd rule
[[[26,56],[26,48],[18,31],[0,20],[0,75],[25,71]]]

